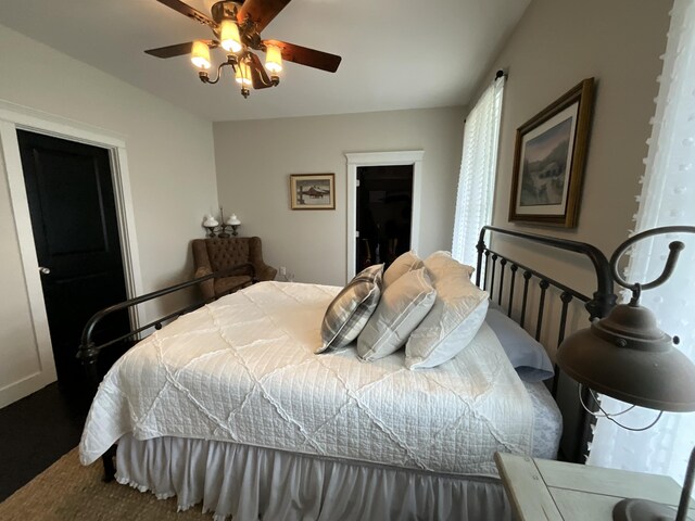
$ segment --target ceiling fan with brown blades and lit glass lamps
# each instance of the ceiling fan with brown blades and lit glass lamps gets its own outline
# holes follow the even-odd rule
[[[204,84],[216,84],[219,81],[223,67],[230,66],[244,98],[249,97],[250,87],[265,89],[277,86],[280,82],[278,73],[282,71],[282,60],[329,73],[334,73],[340,65],[341,58],[336,54],[286,41],[261,39],[261,31],[290,3],[290,0],[222,0],[213,4],[212,18],[180,0],[157,1],[206,25],[212,29],[215,39],[188,41],[144,52],[156,58],[190,54],[191,62],[199,68],[198,76]],[[207,73],[212,67],[210,50],[218,47],[227,52],[227,61],[219,64],[217,77],[211,79]],[[266,53],[265,67],[261,59],[251,52],[252,49]]]

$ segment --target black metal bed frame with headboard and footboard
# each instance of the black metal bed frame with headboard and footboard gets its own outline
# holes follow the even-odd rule
[[[596,292],[594,292],[592,297],[589,297],[534,269],[526,267],[520,263],[511,260],[505,257],[504,255],[493,250],[490,250],[484,242],[484,238],[488,232],[490,232],[491,234],[498,233],[498,234],[511,236],[511,237],[521,239],[523,241],[541,243],[546,246],[569,251],[569,252],[574,252],[587,257],[592,262],[595,274],[596,274],[596,284],[597,284]],[[478,249],[478,266],[476,270],[476,274],[477,274],[476,284],[482,288],[483,290],[486,290],[490,293],[491,298],[492,300],[496,298],[496,302],[500,305],[502,305],[503,303],[503,292],[505,289],[505,274],[507,271],[510,272],[509,283],[506,285],[507,295],[508,295],[507,315],[510,317],[511,317],[513,304],[514,304],[515,279],[519,269],[521,270],[522,277],[523,277],[523,296],[521,302],[521,314],[519,319],[519,323],[521,325],[521,327],[525,326],[526,317],[527,317],[529,284],[531,283],[531,279],[533,278],[538,279],[539,281],[538,283],[541,289],[541,295],[539,300],[538,321],[536,321],[536,328],[535,328],[536,340],[539,340],[541,336],[541,331],[543,326],[543,314],[544,314],[545,304],[546,304],[546,291],[551,287],[556,288],[557,290],[560,291],[560,301],[563,303],[558,345],[565,336],[568,307],[572,300],[577,298],[584,303],[585,308],[590,314],[590,319],[603,317],[615,305],[616,295],[612,293],[612,278],[611,278],[610,266],[605,255],[591,244],[570,241],[566,239],[556,239],[556,238],[551,238],[545,236],[523,233],[523,232],[514,231],[514,230],[505,230],[505,229],[496,228],[492,226],[485,226],[480,230],[480,239],[477,244],[477,249]],[[497,271],[497,262],[500,264],[498,271]],[[508,269],[505,269],[507,268],[507,266],[508,266]],[[168,313],[164,317],[153,320],[144,326],[137,327],[136,329],[131,330],[126,334],[118,336],[117,339],[113,339],[101,344],[96,344],[93,341],[93,334],[98,323],[104,317],[116,312],[135,308],[135,306],[139,304],[153,301],[164,295],[168,295],[181,290],[186,290],[188,288],[197,287],[201,282],[205,282],[210,279],[228,277],[230,275],[238,275],[240,271],[243,271],[243,270],[245,270],[245,272],[251,274],[252,281],[250,283],[255,283],[257,281],[253,266],[251,264],[244,264],[240,266],[235,266],[229,269],[216,271],[214,274],[206,275],[204,277],[190,280],[188,282],[182,282],[160,291],[154,291],[142,296],[130,298],[128,301],[125,301],[119,304],[110,306],[105,309],[102,309],[101,312],[92,316],[87,322],[87,325],[85,326],[85,329],[83,330],[81,342],[77,353],[77,358],[80,359],[87,372],[88,382],[91,386],[91,392],[96,393],[96,390],[99,386],[99,383],[102,378],[102,376],[100,374],[101,371],[99,370],[98,361],[99,361],[99,355],[104,348],[109,346],[113,346],[114,344],[117,344],[119,342],[127,341],[129,339],[138,340],[140,333],[146,332],[151,328],[161,329],[163,323],[169,320],[173,320],[186,313],[198,309],[199,307],[202,307],[208,302],[212,302],[214,298],[197,302],[194,304],[185,306],[180,309]],[[485,277],[483,278],[483,280],[481,280],[482,272],[485,272]],[[228,293],[231,293],[232,291],[236,291],[248,284],[249,282],[231,288],[228,291]],[[557,394],[558,394],[558,387],[560,384],[561,384],[561,378],[556,367],[556,376],[553,379],[553,382],[551,385],[553,396],[555,397],[556,401],[558,399]],[[590,393],[587,393],[584,396],[584,403],[593,404],[592,406],[595,407],[595,403],[593,403],[593,398]],[[572,406],[574,407],[578,406],[578,401],[576,399],[576,395],[574,395],[574,404],[567,405],[567,407],[572,407]],[[565,411],[566,409],[560,406],[560,410]],[[560,459],[565,459],[569,461],[583,462],[585,459],[585,456],[589,453],[587,447],[592,436],[592,425],[593,425],[592,421],[595,421],[595,420],[593,419],[593,416],[586,414],[586,411],[583,408],[579,408],[578,412],[579,412],[580,420],[577,425],[568,425],[568,422],[565,421],[565,429],[563,434],[564,441],[560,444],[559,457]],[[564,449],[563,447],[569,447],[569,448]],[[112,481],[114,479],[114,475],[115,475],[115,467],[113,462],[114,456],[115,456],[115,446],[112,447],[106,454],[102,456],[102,461],[104,465],[104,481]]]

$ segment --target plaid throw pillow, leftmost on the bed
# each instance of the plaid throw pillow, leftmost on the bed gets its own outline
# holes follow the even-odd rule
[[[315,353],[343,347],[357,338],[379,304],[382,275],[383,264],[369,266],[338,293],[324,315],[324,343]]]

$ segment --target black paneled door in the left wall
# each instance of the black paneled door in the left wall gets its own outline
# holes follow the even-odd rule
[[[24,130],[17,137],[58,380],[81,387],[75,355],[85,323],[126,300],[109,152]],[[128,329],[124,313],[97,335]]]

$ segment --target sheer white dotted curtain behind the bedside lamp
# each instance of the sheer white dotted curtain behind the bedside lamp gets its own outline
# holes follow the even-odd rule
[[[658,226],[695,225],[695,2],[675,0],[671,12],[664,72],[659,77],[646,173],[642,178],[635,232]],[[668,243],[685,243],[675,272],[664,285],[642,293],[659,327],[681,338],[679,348],[695,361],[695,236],[659,237],[637,243],[626,279],[654,280],[664,268]],[[624,404],[603,397],[608,411]],[[656,412],[636,409],[620,421],[641,427]],[[644,432],[631,432],[599,419],[590,463],[673,476],[683,482],[687,458],[695,445],[695,414],[665,414]]]

